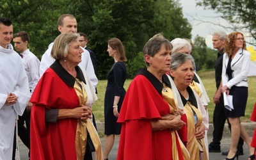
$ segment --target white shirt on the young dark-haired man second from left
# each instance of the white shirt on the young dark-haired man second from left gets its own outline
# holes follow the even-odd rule
[[[22,52],[22,56],[22,64],[28,76],[29,90],[31,90],[32,94],[35,90],[36,84],[39,81],[40,61],[35,54],[33,54],[33,52],[29,51],[29,49]]]

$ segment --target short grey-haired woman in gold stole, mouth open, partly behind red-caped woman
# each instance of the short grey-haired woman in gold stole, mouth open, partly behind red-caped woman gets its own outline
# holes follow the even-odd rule
[[[207,160],[207,148],[204,143],[205,130],[208,128],[208,121],[205,117],[206,111],[200,97],[189,86],[193,81],[193,58],[190,54],[172,54],[172,65],[170,75],[178,90],[178,103],[182,102],[186,113],[186,128],[182,128],[182,133],[187,134],[188,139],[184,139],[190,159]],[[180,104],[178,104],[180,106]]]

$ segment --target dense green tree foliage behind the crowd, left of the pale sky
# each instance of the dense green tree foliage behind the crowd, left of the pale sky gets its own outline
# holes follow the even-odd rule
[[[74,15],[77,31],[88,35],[88,47],[97,56],[99,79],[106,79],[113,65],[106,52],[109,38],[123,42],[129,78],[137,70],[134,67],[145,67],[140,52],[156,33],[163,33],[169,40],[191,38],[191,25],[175,0],[1,0],[0,16],[12,20],[14,33],[29,33],[29,49],[38,58],[60,34],[57,20],[63,13]]]

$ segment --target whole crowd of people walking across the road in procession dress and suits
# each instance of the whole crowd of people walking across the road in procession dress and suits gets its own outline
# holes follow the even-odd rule
[[[221,152],[226,120],[231,144],[222,154],[238,159],[245,142],[248,159],[255,159],[256,135],[252,141],[240,121],[250,68],[243,33],[215,31],[212,36],[218,57],[211,143],[210,99],[196,74],[191,40],[150,38],[143,48],[145,68],[138,68],[126,92],[125,47],[110,38],[107,52],[114,63],[107,75],[102,147],[92,109],[98,99],[95,53],[88,49],[87,35],[77,33],[73,15],[61,15],[58,30],[39,61],[28,49],[28,33],[13,35],[12,22],[0,17],[0,159],[17,158],[19,135],[30,159],[105,160],[120,134],[118,160],[208,160],[209,152]]]

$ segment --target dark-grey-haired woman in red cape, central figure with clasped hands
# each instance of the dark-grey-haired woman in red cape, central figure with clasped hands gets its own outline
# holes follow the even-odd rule
[[[117,159],[189,159],[177,135],[186,125],[174,100],[170,81],[172,46],[151,38],[143,49],[146,68],[138,70],[125,95],[118,122],[122,124]]]

